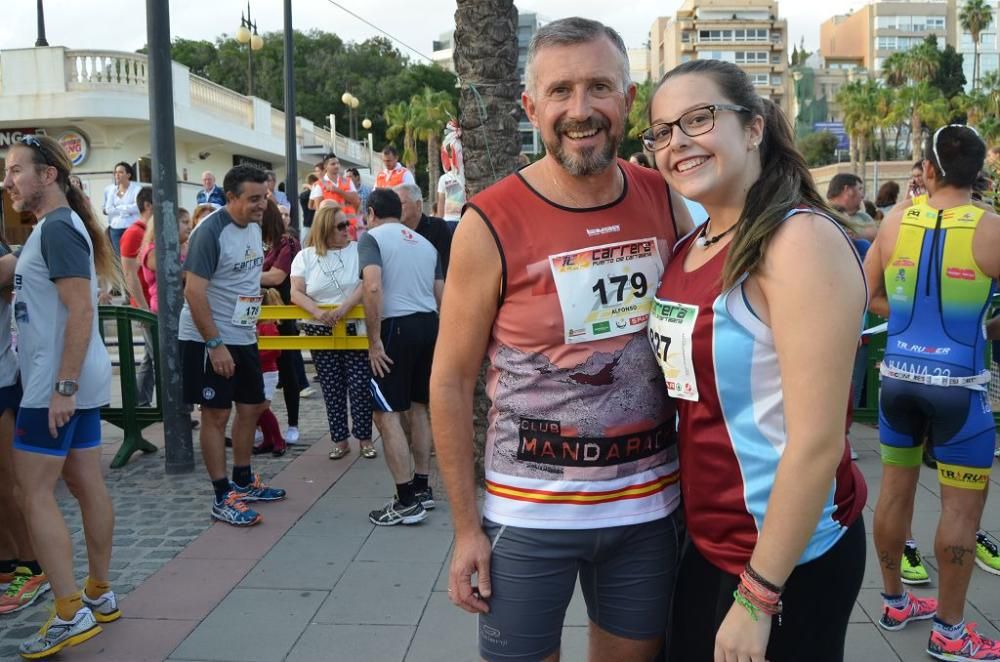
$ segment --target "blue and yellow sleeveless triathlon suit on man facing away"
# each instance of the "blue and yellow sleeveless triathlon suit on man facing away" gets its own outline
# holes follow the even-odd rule
[[[926,440],[942,484],[983,489],[996,426],[986,384],[985,318],[996,282],[972,253],[973,205],[903,214],[885,268],[889,330],[881,373],[882,461],[920,464]]]

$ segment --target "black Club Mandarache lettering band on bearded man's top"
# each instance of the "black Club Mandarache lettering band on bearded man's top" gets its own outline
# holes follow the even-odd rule
[[[561,467],[635,462],[675,446],[673,423],[619,437],[564,437],[558,421],[522,418],[517,459]]]

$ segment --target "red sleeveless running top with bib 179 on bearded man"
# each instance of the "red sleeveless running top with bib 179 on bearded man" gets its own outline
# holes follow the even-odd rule
[[[484,515],[528,528],[651,521],[679,503],[674,406],[646,325],[677,240],[656,171],[570,209],[515,173],[469,203],[503,265],[489,343]]]

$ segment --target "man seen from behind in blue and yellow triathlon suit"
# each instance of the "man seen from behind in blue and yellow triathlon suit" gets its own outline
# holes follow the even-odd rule
[[[924,153],[928,197],[889,214],[866,262],[872,309],[889,317],[874,527],[885,600],[879,625],[898,630],[933,618],[933,657],[1000,660],[1000,643],[963,619],[996,438],[983,326],[1000,276],[1000,217],[971,202],[986,154],[973,129],[942,127]],[[899,577],[925,444],[941,483],[938,600],[904,593]]]

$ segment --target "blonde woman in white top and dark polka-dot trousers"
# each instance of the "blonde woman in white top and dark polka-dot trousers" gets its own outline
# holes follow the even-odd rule
[[[331,335],[333,327],[361,303],[358,245],[351,241],[349,227],[341,208],[325,202],[316,211],[305,248],[292,261],[292,303],[313,316],[313,320],[301,323],[307,336]],[[335,304],[337,308],[320,308],[324,304]],[[354,332],[362,333],[357,326]],[[350,328],[348,333],[351,333]],[[330,459],[339,460],[351,452],[347,443],[351,432],[361,444],[361,454],[369,459],[376,457],[372,444],[371,366],[367,350],[313,350],[312,357],[330,424],[333,441]],[[351,397],[350,432],[348,393]]]

